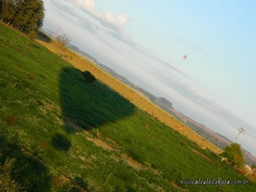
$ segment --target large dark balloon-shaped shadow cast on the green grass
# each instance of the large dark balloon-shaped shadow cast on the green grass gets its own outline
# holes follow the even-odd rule
[[[104,83],[87,82],[82,72],[65,68],[60,74],[62,115],[67,133],[98,128],[130,116],[135,106]],[[110,82],[111,83],[111,82]]]

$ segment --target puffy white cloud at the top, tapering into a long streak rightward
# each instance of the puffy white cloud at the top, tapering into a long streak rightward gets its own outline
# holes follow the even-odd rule
[[[157,61],[158,63],[161,63],[165,67],[175,70],[176,72],[179,72],[183,76],[190,78],[185,73],[183,73],[179,68],[176,68],[172,64],[154,56],[153,53],[151,53],[144,47],[138,45],[131,38],[130,35],[125,33],[125,31],[122,29],[122,27],[127,22],[127,20],[130,19],[126,14],[121,13],[116,16],[112,11],[107,11],[106,13],[104,13],[101,10],[98,10],[96,8],[94,0],[64,0],[65,2],[70,3],[70,5],[73,5],[76,8],[87,13],[88,15],[90,15],[92,18],[94,18],[101,24],[101,25],[97,25],[92,20],[86,18],[85,15],[82,16],[75,9],[71,9],[70,5],[69,6],[63,5],[58,0],[51,0],[51,1],[55,4],[55,7],[57,9],[60,9],[64,12],[71,14],[72,16],[80,18],[83,21],[82,24],[84,24],[85,27],[87,27],[93,33],[99,33],[99,31],[102,31],[102,32],[124,42],[125,44],[131,46],[135,50],[143,53],[145,56],[152,58],[153,60]],[[98,38],[100,38],[100,36],[98,36]],[[100,39],[102,39],[102,38],[100,38]],[[106,42],[105,40],[103,40],[103,41]]]

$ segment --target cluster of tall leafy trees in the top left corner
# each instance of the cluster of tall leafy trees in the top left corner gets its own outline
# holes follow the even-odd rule
[[[26,34],[37,32],[44,17],[42,0],[0,0],[0,19]]]

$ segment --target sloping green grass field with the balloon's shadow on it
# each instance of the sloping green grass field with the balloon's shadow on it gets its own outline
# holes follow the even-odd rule
[[[253,191],[244,176],[100,81],[0,24],[0,164],[27,191]],[[0,169],[0,172],[3,169]],[[0,183],[1,185],[1,183]],[[1,188],[0,188],[1,189]]]

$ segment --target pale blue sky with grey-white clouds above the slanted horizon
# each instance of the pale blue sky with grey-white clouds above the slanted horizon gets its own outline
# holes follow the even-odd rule
[[[254,1],[45,0],[44,28],[256,155]],[[183,59],[183,55],[187,59]]]

